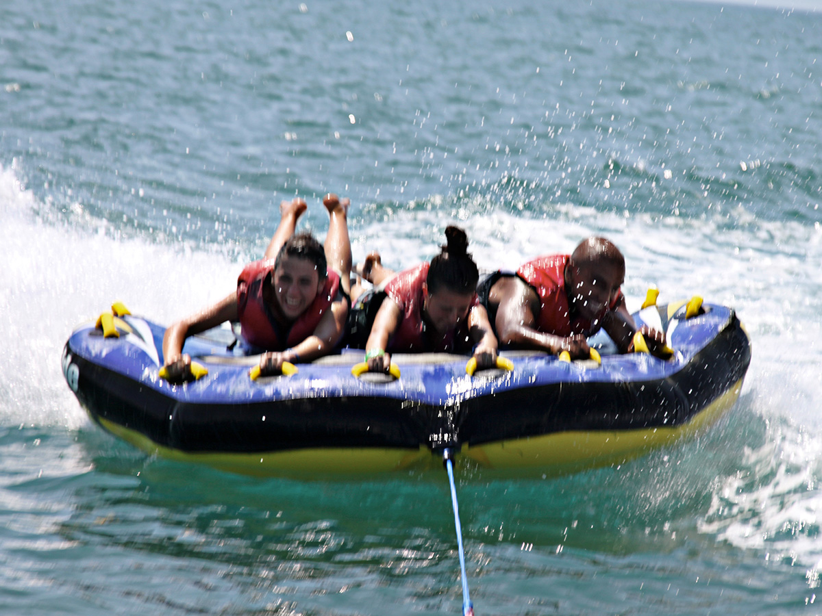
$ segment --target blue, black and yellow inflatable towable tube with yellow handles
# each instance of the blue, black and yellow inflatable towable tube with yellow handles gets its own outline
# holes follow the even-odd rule
[[[397,354],[395,375],[356,376],[363,352],[344,351],[252,379],[259,356],[221,330],[187,339],[203,371],[175,385],[159,375],[162,326],[119,304],[104,317],[76,329],[62,356],[90,417],[148,453],[253,475],[439,465],[443,448],[520,472],[619,463],[704,430],[736,401],[750,363],[734,311],[692,300],[635,314],[667,333],[667,361],[502,352],[501,367],[475,371],[467,356]]]

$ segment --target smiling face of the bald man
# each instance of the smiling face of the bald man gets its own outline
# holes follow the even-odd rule
[[[625,267],[614,263],[569,265],[568,301],[572,310],[595,323],[602,319],[625,282]]]

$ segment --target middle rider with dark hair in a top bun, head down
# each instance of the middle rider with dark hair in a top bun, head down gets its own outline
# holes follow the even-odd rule
[[[349,339],[362,347],[367,336],[368,370],[387,372],[390,353],[473,352],[479,369],[496,364],[496,337],[478,301],[479,271],[468,237],[450,226],[446,240],[431,263],[399,274],[383,268],[380,255],[368,255],[358,274],[375,289],[355,302]]]

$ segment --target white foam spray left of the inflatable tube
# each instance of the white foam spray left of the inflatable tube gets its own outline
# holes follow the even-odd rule
[[[60,356],[77,324],[113,301],[169,322],[231,292],[238,264],[44,223],[35,211],[47,207],[13,167],[0,168],[0,412],[7,424],[74,427],[85,416],[62,378]]]

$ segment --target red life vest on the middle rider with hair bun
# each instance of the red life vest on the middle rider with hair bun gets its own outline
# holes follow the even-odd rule
[[[388,341],[391,353],[452,352],[465,353],[473,348],[468,319],[462,319],[455,329],[440,336],[423,319],[423,283],[428,275],[428,263],[400,272],[386,283],[386,295],[397,303],[402,320]],[[474,293],[471,307],[478,306]]]

